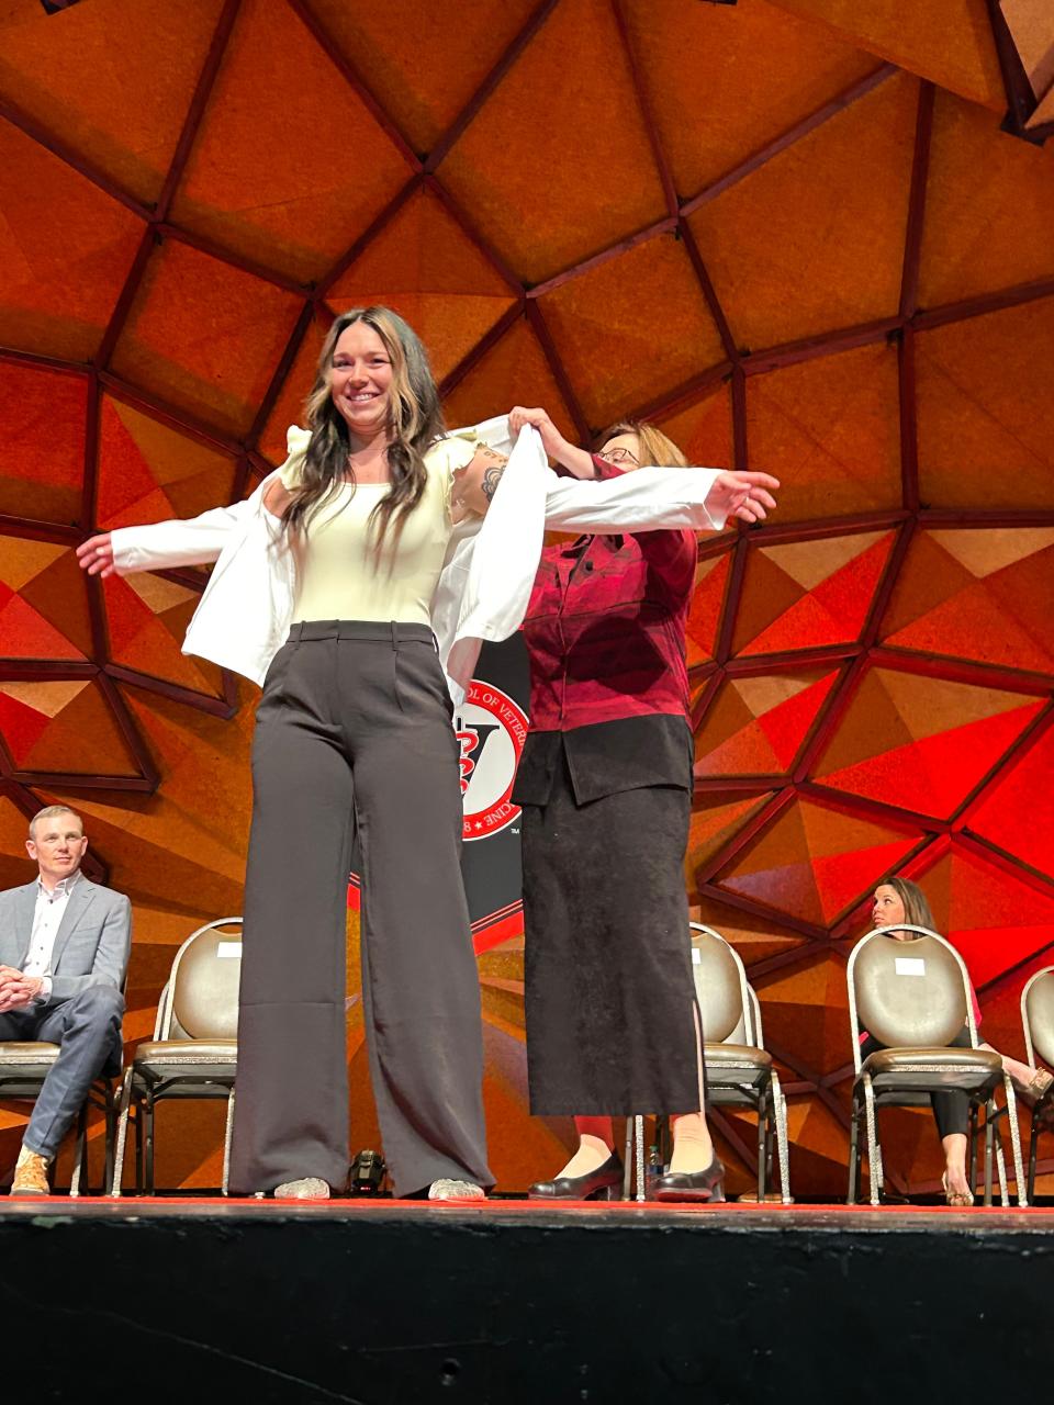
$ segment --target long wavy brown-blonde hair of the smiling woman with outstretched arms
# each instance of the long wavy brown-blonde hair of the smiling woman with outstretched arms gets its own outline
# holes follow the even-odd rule
[[[354,485],[354,471],[349,464],[351,443],[347,424],[333,403],[332,385],[336,344],[356,322],[374,329],[392,364],[392,440],[388,445],[392,482],[370,514],[370,528],[377,532],[379,549],[388,528],[395,524],[398,534],[406,516],[420,502],[427,478],[424,454],[444,427],[429,354],[417,333],[391,308],[351,308],[341,312],[329,329],[315,384],[305,402],[311,443],[301,483],[282,513],[282,525],[305,530],[311,516],[332,500],[341,483]]]

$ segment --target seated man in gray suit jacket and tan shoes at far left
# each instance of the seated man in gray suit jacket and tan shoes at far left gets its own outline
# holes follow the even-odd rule
[[[132,908],[80,871],[84,823],[65,805],[34,815],[39,878],[0,892],[0,1041],[59,1044],[22,1137],[13,1196],[46,1196],[48,1166],[93,1080],[121,1058]]]

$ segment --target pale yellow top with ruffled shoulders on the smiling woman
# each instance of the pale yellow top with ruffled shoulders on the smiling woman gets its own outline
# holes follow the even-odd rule
[[[388,483],[343,483],[297,532],[297,600],[292,622],[306,620],[398,620],[431,624],[431,597],[453,530],[450,493],[454,472],[475,452],[475,443],[440,440],[424,455],[429,471],[420,502],[385,532],[379,554],[370,514]],[[299,486],[302,459],[285,465],[285,488]]]

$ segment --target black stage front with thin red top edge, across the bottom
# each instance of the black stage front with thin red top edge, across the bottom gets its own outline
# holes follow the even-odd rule
[[[7,1201],[0,1380],[136,1405],[1043,1398],[1051,1229],[1047,1210]]]

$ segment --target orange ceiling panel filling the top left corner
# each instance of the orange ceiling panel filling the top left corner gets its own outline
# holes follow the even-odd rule
[[[4,27],[0,94],[149,204],[169,169],[222,0],[91,0]],[[119,42],[115,30],[119,28]]]

